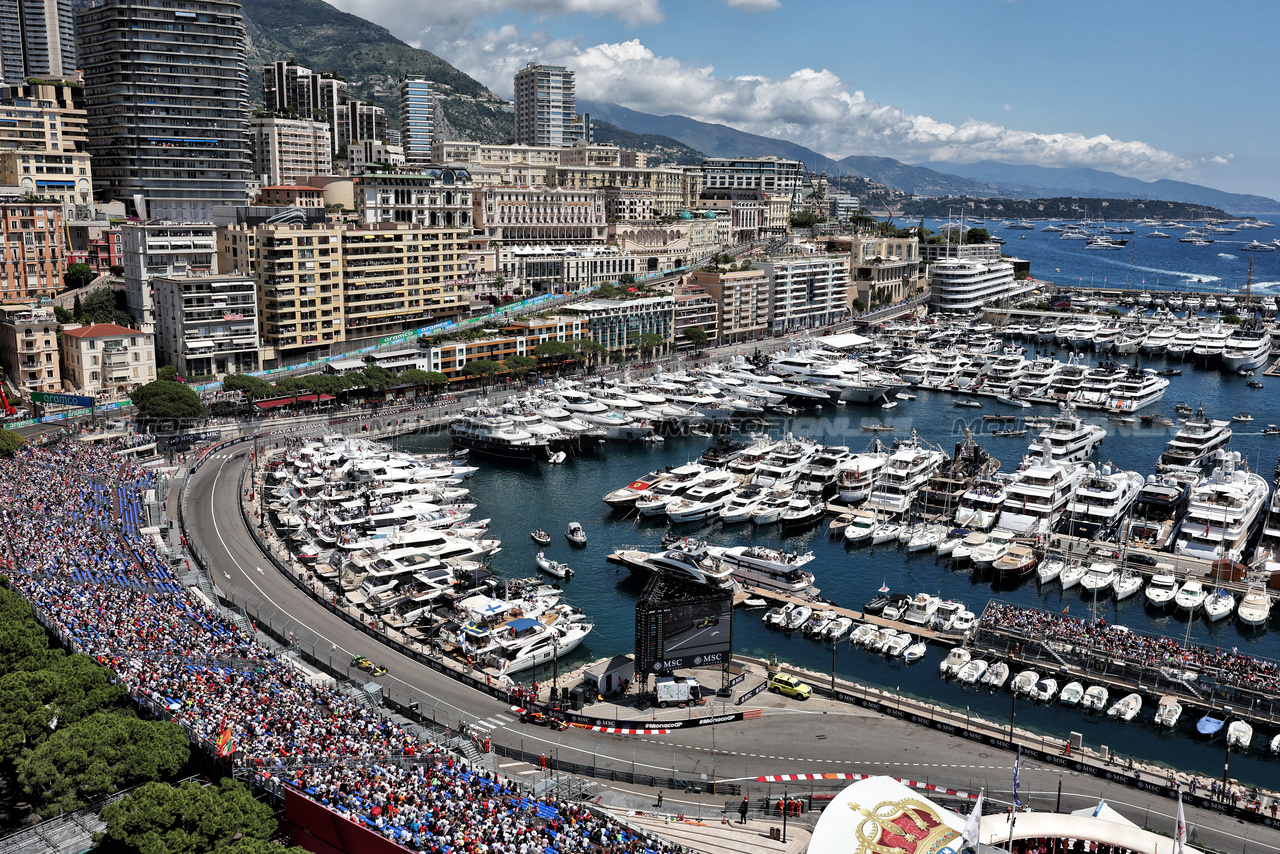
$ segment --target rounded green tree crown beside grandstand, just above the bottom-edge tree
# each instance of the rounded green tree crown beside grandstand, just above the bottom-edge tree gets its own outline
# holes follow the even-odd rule
[[[15,769],[23,793],[47,818],[116,789],[172,777],[189,755],[187,731],[177,723],[95,712],[59,726]]]

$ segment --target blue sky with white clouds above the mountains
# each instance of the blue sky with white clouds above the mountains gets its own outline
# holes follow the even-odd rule
[[[512,96],[580,99],[946,170],[1091,166],[1280,198],[1280,3],[329,0]]]

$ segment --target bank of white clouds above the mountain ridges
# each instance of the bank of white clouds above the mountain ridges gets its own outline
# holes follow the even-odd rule
[[[959,124],[881,104],[826,69],[801,68],[785,78],[717,77],[696,65],[654,54],[639,38],[582,46],[503,26],[477,33],[475,22],[502,10],[536,15],[612,15],[630,24],[663,19],[662,0],[338,0],[374,20],[401,22],[462,70],[511,97],[512,77],[529,61],[577,70],[580,99],[608,101],[644,113],[682,114],[781,137],[835,157],[884,155],[901,160],[965,163],[1004,160],[1038,165],[1087,165],[1135,177],[1187,174],[1199,161],[1135,140],[1107,134],[1041,133],[968,119]],[[780,0],[726,0],[739,9],[765,9]],[[1012,111],[1005,105],[1005,111]],[[1213,160],[1213,163],[1217,163]]]

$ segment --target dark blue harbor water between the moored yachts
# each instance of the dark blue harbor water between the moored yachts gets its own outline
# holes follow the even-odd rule
[[[1036,344],[1030,347],[1034,350]],[[1164,360],[1156,360],[1151,365],[1164,366]],[[1280,421],[1276,392],[1272,388],[1249,389],[1243,378],[1201,370],[1189,362],[1183,365],[1183,371],[1181,376],[1171,378],[1165,399],[1143,411],[1166,414],[1176,423],[1174,405],[1179,401],[1203,406],[1211,417],[1219,419],[1252,410],[1256,421],[1233,425],[1231,448],[1244,456],[1252,470],[1262,472],[1270,480],[1280,453],[1280,437],[1262,435],[1261,428],[1267,424],[1268,412],[1270,420]],[[1272,383],[1276,380],[1270,380],[1268,385]],[[891,437],[905,438],[914,429],[923,439],[950,453],[955,443],[963,439],[965,428],[969,428],[978,442],[1001,460],[1004,470],[1018,467],[1027,453],[1029,439],[1036,434],[1032,430],[1021,439],[989,435],[992,429],[1009,425],[992,426],[988,421],[984,426],[982,412],[1011,411],[995,401],[988,399],[983,411],[975,411],[954,407],[952,401],[956,398],[948,393],[915,393],[918,399],[901,401],[892,410],[824,405],[820,410],[809,410],[790,419],[776,419],[771,421],[768,431],[774,437],[790,431],[861,451],[873,438],[861,425],[883,421],[895,426],[892,434],[881,434],[884,440]],[[1020,415],[1046,416],[1053,411],[1050,406],[1033,406]],[[1100,412],[1082,415],[1085,420],[1107,428],[1107,438],[1092,457],[1093,462],[1111,462],[1143,475],[1155,471],[1156,458],[1174,431],[1174,428],[1146,426],[1140,423],[1132,426],[1111,424]],[[468,483],[480,504],[474,515],[490,517],[493,535],[503,540],[502,552],[493,560],[494,571],[504,577],[535,575],[534,556],[539,548],[529,534],[538,528],[552,535],[552,543],[545,549],[548,556],[567,562],[576,571],[564,583],[566,600],[586,611],[595,622],[595,631],[567,661],[561,662],[562,668],[634,649],[635,603],[640,584],[630,579],[625,568],[607,563],[605,557],[626,545],[658,551],[659,540],[671,530],[664,517],[659,517],[660,521],[637,520],[635,515],[616,513],[602,501],[602,495],[648,471],[696,460],[707,442],[708,439],[698,437],[668,437],[659,444],[609,444],[594,453],[570,457],[558,466],[476,461],[480,470]],[[448,438],[403,437],[399,443],[403,449],[438,451],[447,446]],[[582,524],[588,534],[585,547],[573,547],[566,540],[564,529],[570,521]],[[685,525],[678,530],[714,544],[759,543],[790,551],[812,551],[814,560],[805,568],[817,576],[822,597],[852,608],[860,608],[874,595],[877,588],[887,584],[896,593],[914,595],[927,592],[945,599],[960,599],[977,613],[995,598],[1057,613],[1065,611],[1071,617],[1105,618],[1108,624],[1120,624],[1135,632],[1167,635],[1180,641],[1189,639],[1193,644],[1208,647],[1239,647],[1256,656],[1280,658],[1280,621],[1276,620],[1263,630],[1245,634],[1234,620],[1210,624],[1199,617],[1188,622],[1174,612],[1148,612],[1142,595],[1130,597],[1119,606],[1110,597],[1092,603],[1082,599],[1078,590],[1064,593],[1056,581],[1041,588],[1034,577],[1015,589],[995,590],[988,577],[968,568],[952,568],[933,552],[909,556],[893,545],[847,545],[842,539],[829,539],[826,524],[786,538],[777,526],[724,526],[719,521]],[[780,659],[818,672],[828,672],[835,665],[836,673],[844,677],[927,698],[960,711],[970,709],[974,714],[988,718],[1009,720],[1007,689],[992,694],[987,689],[961,688],[938,676],[938,663],[943,657],[941,648],[931,648],[922,662],[906,666],[901,659],[886,659],[841,640],[836,644],[833,657],[829,645],[805,639],[800,632],[787,636],[765,629],[760,621],[762,615],[762,609],[740,608],[736,612],[733,647],[737,653],[758,657],[774,653]],[[550,677],[550,668],[526,673],[527,680],[534,677],[545,682]],[[1153,708],[1155,703],[1151,702],[1138,720],[1120,723],[1097,713],[1066,709],[1053,703],[1034,705],[1024,700],[1018,704],[1016,721],[1020,727],[1052,737],[1066,739],[1071,731],[1078,731],[1084,735],[1085,744],[1093,748],[1106,744],[1124,755],[1157,762],[1176,757],[1179,768],[1220,777],[1224,757],[1221,737],[1206,741],[1196,735],[1198,716],[1190,711],[1184,713],[1176,732],[1157,731],[1151,722]],[[1258,727],[1252,750],[1231,757],[1233,777],[1254,782],[1275,778],[1276,761],[1267,754],[1267,740],[1274,734]]]

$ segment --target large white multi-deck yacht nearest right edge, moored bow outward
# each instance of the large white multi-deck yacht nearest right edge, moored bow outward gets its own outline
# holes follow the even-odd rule
[[[1213,474],[1192,490],[1176,548],[1188,557],[1240,561],[1262,521],[1270,485],[1239,467],[1238,451],[1222,451],[1217,457]]]

